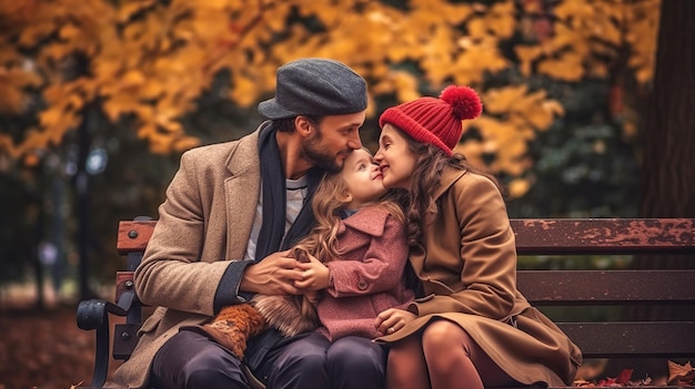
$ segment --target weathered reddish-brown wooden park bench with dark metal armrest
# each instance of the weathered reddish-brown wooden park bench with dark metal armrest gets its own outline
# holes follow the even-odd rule
[[[155,223],[120,222],[118,252],[127,257],[128,264],[124,272],[117,274],[115,303],[85,300],[78,307],[78,326],[97,330],[90,388],[101,387],[107,379],[110,346],[114,360],[125,360],[138,341],[142,306],[134,293],[133,270],[142,259]],[[558,268],[566,267],[563,263],[576,262],[577,256],[590,255],[639,255],[642,262],[651,265],[645,269],[520,268],[518,289],[542,310],[580,306],[695,307],[695,269],[659,268],[664,255],[683,255],[688,262],[695,260],[693,218],[512,219],[512,228],[520,256],[550,256],[555,258],[553,264],[561,265],[555,266]],[[124,324],[115,325],[113,338],[109,334],[109,314],[125,317]],[[695,357],[695,321],[613,320],[584,317],[581,321],[557,325],[580,346],[585,359]]]

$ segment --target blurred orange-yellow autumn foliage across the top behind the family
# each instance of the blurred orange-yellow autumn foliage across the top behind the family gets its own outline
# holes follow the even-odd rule
[[[637,80],[651,79],[658,0],[565,0],[546,10],[555,17],[552,23],[543,22],[542,2],[533,0],[521,7],[513,0],[403,3],[407,7],[369,0],[0,0],[0,113],[24,114],[28,88],[39,89],[47,104],[38,126],[18,142],[0,133],[0,152],[20,158],[60,143],[94,101],[111,121],[134,117],[152,152],[187,150],[199,141],[179,117],[195,110],[195,99],[220,70],[231,72],[230,99],[250,106],[274,89],[280,64],[326,57],[363,74],[372,96],[411,100],[420,96],[423,81],[431,91],[449,83],[477,89],[485,114],[472,125],[483,142],[461,147],[472,157],[495,153],[495,173],[520,176],[530,164],[526,143],[563,109],[524,84],[486,90],[488,74],[520,66],[524,75],[566,81],[605,76],[602,59],[628,47]],[[537,43],[516,45],[520,63],[514,63],[501,45],[527,32],[524,16],[540,16],[533,25]],[[310,31],[309,19],[322,25],[320,32]],[[68,78],[77,53],[89,69]],[[416,64],[423,79],[401,63]],[[523,194],[528,183],[515,187]]]

